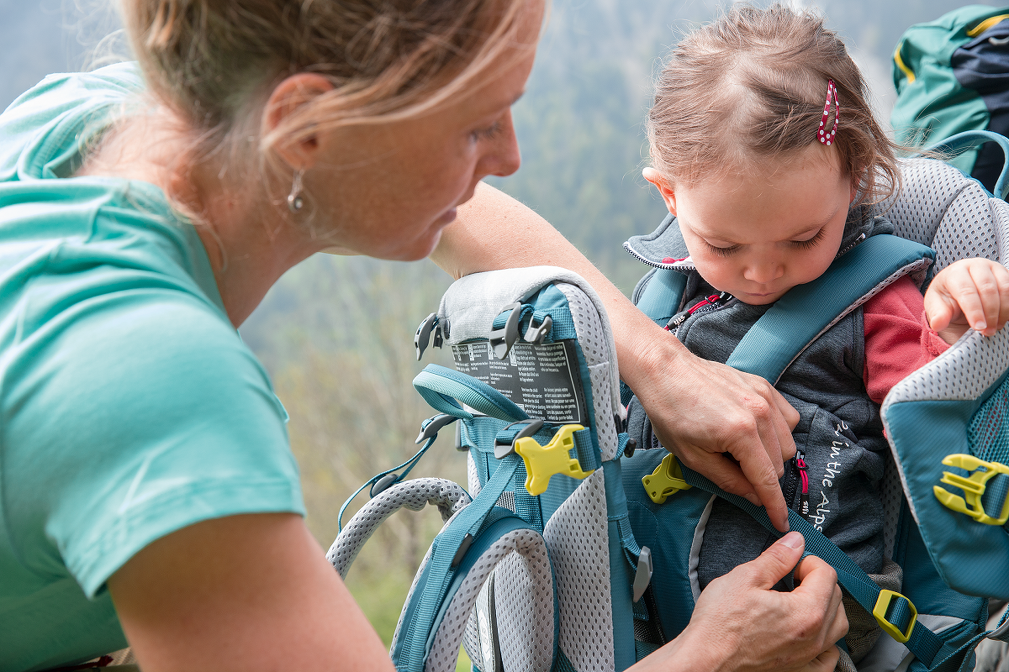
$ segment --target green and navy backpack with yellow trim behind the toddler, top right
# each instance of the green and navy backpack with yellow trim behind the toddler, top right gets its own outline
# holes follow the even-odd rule
[[[893,54],[897,141],[935,143],[968,130],[1009,134],[1009,7],[970,5],[909,27]],[[950,159],[999,197],[1001,150],[993,143]]]

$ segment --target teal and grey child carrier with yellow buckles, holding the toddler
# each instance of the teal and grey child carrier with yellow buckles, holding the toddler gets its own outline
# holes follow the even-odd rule
[[[920,244],[935,247],[939,267],[963,256],[1005,258],[1009,206],[939,161],[902,167],[900,197],[877,208],[903,239],[873,236],[827,271],[824,284],[834,287],[811,283],[794,298],[790,293],[803,319],[769,311],[772,317],[751,330],[758,335],[740,344],[736,365],[774,379],[838,315],[920,264]],[[676,275],[659,268],[636,290],[639,306],[656,320],[676,311]],[[851,289],[837,293],[837,285]],[[1009,639],[1009,627],[983,632],[987,600],[971,596],[1009,597],[1005,529],[975,517],[1001,515],[1009,492],[995,465],[1007,436],[1006,332],[989,339],[969,332],[884,403],[895,462],[884,479],[885,531],[888,554],[903,567],[899,590],[880,589],[790,513],[807,552],[835,567],[846,590],[887,633],[861,670],[967,670],[982,637]],[[432,339],[453,349],[458,370],[429,365],[415,380],[439,412],[423,425],[424,447],[365,484],[371,500],[328,556],[345,574],[394,511],[439,507],[446,525],[417,573],[391,645],[399,670],[454,669],[460,642],[481,672],[624,670],[689,621],[696,599],[692,548],[713,497],[773,532],[763,509],[718,490],[664,449],[629,439],[606,316],[574,273],[534,267],[464,277],[418,329],[419,356]],[[404,480],[453,423],[456,445],[467,451],[468,493],[443,479]],[[959,443],[931,440],[959,437],[956,427],[964,435]],[[949,462],[950,453],[979,462]],[[936,498],[935,487],[952,497],[960,492],[965,506]]]

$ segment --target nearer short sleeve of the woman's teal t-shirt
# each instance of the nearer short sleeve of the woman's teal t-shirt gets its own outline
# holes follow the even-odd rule
[[[222,318],[169,289],[110,292],[8,353],[3,509],[28,570],[94,596],[181,528],[304,515],[287,415]]]

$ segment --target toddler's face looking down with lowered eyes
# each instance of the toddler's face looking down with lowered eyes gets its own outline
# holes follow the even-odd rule
[[[839,163],[832,147],[817,142],[743,177],[660,191],[701,276],[764,305],[833,261],[856,194]]]

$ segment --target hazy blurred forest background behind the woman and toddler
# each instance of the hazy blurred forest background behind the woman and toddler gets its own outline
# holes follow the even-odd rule
[[[105,4],[0,0],[0,108],[46,73],[95,63],[96,47],[99,62],[107,52],[122,53],[121,40],[105,39],[116,25]],[[678,35],[727,4],[554,0],[528,92],[515,107],[523,167],[488,182],[545,216],[625,292],[644,268],[621,243],[651,230],[664,214],[641,178],[647,164],[642,120],[653,76]],[[901,32],[967,3],[796,4],[821,12],[846,38],[885,120],[894,96],[890,55]],[[324,547],[337,533],[336,513],[347,495],[412,455],[420,421],[433,414],[410,382],[426,363],[448,362],[437,350],[415,361],[412,340],[449,282],[428,261],[317,255],[291,270],[241,329],[291,415],[308,523]],[[464,482],[464,456],[452,449],[450,436],[412,475],[429,474]],[[386,642],[439,526],[436,512],[397,514],[350,572],[351,589]]]

